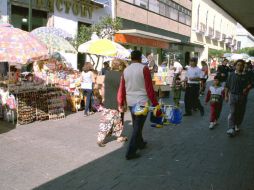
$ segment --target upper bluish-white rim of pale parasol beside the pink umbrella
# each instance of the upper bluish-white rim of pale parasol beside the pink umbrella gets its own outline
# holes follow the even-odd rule
[[[61,38],[64,38],[66,40],[72,39],[71,34],[68,32],[64,31],[61,28],[54,28],[54,27],[39,27],[31,31],[32,34],[35,36],[40,35],[41,33],[43,34],[53,34],[56,36],[59,36]]]

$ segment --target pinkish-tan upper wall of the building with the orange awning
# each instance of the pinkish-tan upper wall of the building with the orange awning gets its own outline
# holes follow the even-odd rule
[[[129,3],[126,3],[129,2]],[[159,5],[158,1],[154,0],[149,2],[149,10],[140,7],[143,3],[146,2],[145,0],[136,0],[135,5],[133,0],[126,0],[125,1],[117,1],[117,16],[120,18],[124,18],[127,20],[131,20],[134,22],[142,23],[145,25],[153,26],[156,28],[160,28],[163,30],[167,30],[170,32],[182,34],[185,36],[190,36],[191,28],[190,26],[186,24],[182,24],[180,22],[177,22],[173,19],[169,19],[165,16],[161,16],[159,14]],[[190,7],[190,2],[189,0],[179,0],[179,4],[181,3],[182,5]],[[145,4],[145,3],[144,3]],[[152,12],[153,11],[153,12]],[[137,14],[138,13],[138,14]],[[157,13],[157,14],[156,14]]]

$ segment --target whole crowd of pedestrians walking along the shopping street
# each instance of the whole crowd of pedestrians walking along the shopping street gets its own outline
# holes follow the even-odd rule
[[[152,75],[158,69],[151,54],[148,56],[148,65],[142,63],[140,51],[131,53],[131,63],[127,66],[125,62],[115,59],[111,63],[104,63],[102,74],[104,79],[104,98],[100,98],[103,108],[102,117],[97,135],[97,144],[100,147],[106,146],[108,137],[114,136],[118,142],[128,140],[122,134],[124,129],[124,112],[130,110],[132,118],[132,135],[129,138],[129,145],[126,152],[126,159],[138,158],[137,150],[146,148],[147,142],[144,140],[142,130],[147,119],[147,114],[135,114],[133,108],[137,103],[150,103],[151,107],[156,108],[154,117],[160,117],[162,110],[159,107],[156,93],[153,88]],[[229,136],[239,133],[244,118],[248,93],[253,86],[253,69],[250,63],[244,60],[237,60],[234,65],[229,66],[229,61],[224,59],[216,70],[213,70],[212,84],[207,88],[209,78],[209,66],[206,61],[201,62],[201,68],[197,66],[198,59],[190,59],[186,68],[178,60],[172,63],[174,70],[174,80],[172,84],[173,102],[176,107],[180,107],[182,91],[184,91],[183,116],[192,116],[193,112],[199,110],[200,115],[204,116],[204,106],[201,104],[200,97],[205,95],[205,104],[210,106],[209,129],[218,125],[219,117],[223,109],[223,101],[228,102],[230,112],[228,115]],[[167,67],[163,62],[161,67]],[[181,74],[186,70],[185,77]],[[93,83],[96,74],[92,72],[92,67],[85,64],[82,72],[81,88],[83,89],[85,101],[84,115],[92,114],[91,97]],[[96,98],[95,98],[96,99]]]

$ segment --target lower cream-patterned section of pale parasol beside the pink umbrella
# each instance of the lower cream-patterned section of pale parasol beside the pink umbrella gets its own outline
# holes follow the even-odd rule
[[[43,42],[51,52],[63,51],[66,53],[77,53],[77,50],[67,40],[55,34],[38,33],[33,35]]]

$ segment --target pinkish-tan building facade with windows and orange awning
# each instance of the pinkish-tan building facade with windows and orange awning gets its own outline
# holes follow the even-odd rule
[[[113,15],[123,22],[116,42],[144,55],[152,52],[157,63],[169,58],[185,62],[183,52],[188,51],[191,35],[190,0],[115,0],[114,5]]]

